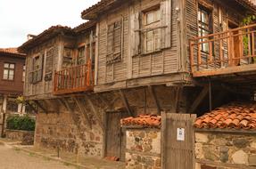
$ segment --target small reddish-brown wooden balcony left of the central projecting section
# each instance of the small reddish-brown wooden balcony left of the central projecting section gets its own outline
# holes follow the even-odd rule
[[[65,68],[55,72],[54,76],[54,94],[81,93],[93,91],[94,72],[92,64]]]

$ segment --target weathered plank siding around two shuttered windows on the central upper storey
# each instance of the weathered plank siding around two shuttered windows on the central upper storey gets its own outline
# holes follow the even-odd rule
[[[162,47],[159,52],[151,52],[149,54],[134,55],[133,52],[133,49],[136,50],[135,43],[139,40],[135,39],[135,42],[132,40],[132,38],[139,35],[136,34],[136,31],[139,31],[139,28],[137,29],[139,26],[134,25],[136,23],[133,21],[138,20],[140,17],[136,16],[136,13],[144,12],[156,5],[161,5],[162,2],[161,0],[142,0],[121,4],[118,9],[105,12],[105,14],[99,18],[97,24],[98,60],[96,60],[95,88],[102,84],[113,84],[129,79],[161,76],[178,72],[180,64],[178,61],[178,12],[175,10],[175,7],[179,6],[180,2],[177,0],[166,1],[172,6],[171,9],[169,9],[169,15],[166,16],[167,20],[170,21],[171,32],[169,32],[170,36],[168,38],[171,41],[167,44],[170,45],[170,47]],[[168,18],[169,16],[171,16],[171,18]],[[108,25],[121,18],[123,18],[122,60],[112,64],[106,64]],[[136,31],[132,30],[133,28],[135,28]],[[168,33],[163,35],[168,35]],[[107,89],[101,88],[99,90]]]

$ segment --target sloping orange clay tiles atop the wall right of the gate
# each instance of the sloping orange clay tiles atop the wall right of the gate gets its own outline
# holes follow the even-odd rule
[[[256,103],[234,102],[198,117],[196,128],[256,129]]]

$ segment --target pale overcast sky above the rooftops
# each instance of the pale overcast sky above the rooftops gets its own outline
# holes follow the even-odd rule
[[[74,28],[85,22],[80,13],[99,0],[0,0],[0,48],[17,47],[28,34],[54,25]]]

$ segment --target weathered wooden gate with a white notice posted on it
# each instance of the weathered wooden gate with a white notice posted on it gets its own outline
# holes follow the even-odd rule
[[[161,168],[194,169],[196,115],[162,113]]]

